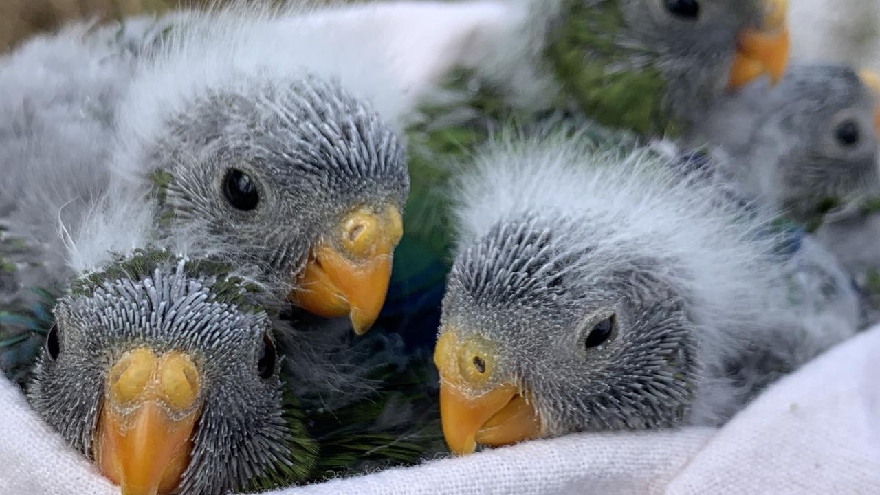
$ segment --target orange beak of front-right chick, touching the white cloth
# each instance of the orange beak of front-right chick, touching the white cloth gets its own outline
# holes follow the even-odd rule
[[[501,447],[538,438],[538,412],[512,383],[488,386],[494,371],[490,348],[459,343],[452,332],[437,341],[434,363],[440,372],[440,416],[453,454],[470,454],[477,443]],[[479,393],[468,393],[482,388]]]

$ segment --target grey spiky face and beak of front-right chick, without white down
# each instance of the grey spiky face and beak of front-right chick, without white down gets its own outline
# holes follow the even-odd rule
[[[660,263],[573,252],[571,230],[526,215],[459,248],[434,356],[454,453],[686,417],[693,328]]]

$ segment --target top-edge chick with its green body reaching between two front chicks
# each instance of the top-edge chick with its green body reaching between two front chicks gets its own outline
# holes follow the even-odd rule
[[[455,174],[444,164],[504,124],[577,119],[627,139],[674,137],[700,124],[713,101],[763,76],[778,80],[788,63],[786,0],[502,5],[407,131],[412,184],[400,251],[415,255],[394,284],[444,283],[452,239],[445,181]],[[422,296],[436,297],[425,285]]]

